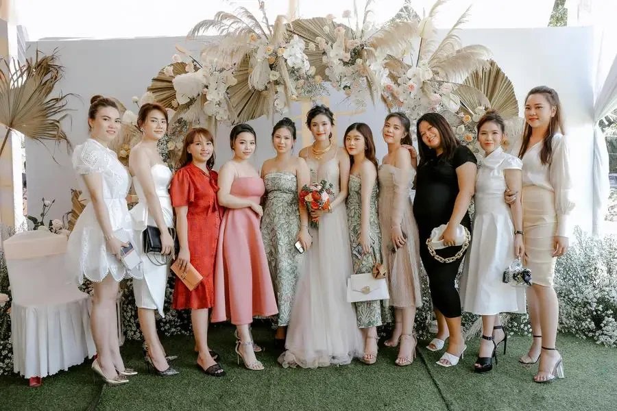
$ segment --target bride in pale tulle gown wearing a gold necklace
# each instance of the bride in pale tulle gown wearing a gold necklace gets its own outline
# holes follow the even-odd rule
[[[300,151],[311,169],[311,183],[325,179],[334,186],[330,212],[315,214],[319,228],[310,228],[313,245],[306,251],[291,310],[282,366],[317,368],[349,364],[363,353],[356,313],[347,302],[347,279],[353,273],[345,199],[350,161],[330,141],[333,116],[324,105],[309,111],[306,123],[315,143]]]

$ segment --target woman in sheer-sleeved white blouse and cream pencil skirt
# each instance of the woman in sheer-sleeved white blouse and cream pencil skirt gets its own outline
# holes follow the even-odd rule
[[[563,361],[555,348],[559,301],[553,277],[555,258],[566,253],[572,235],[574,193],[562,116],[555,90],[532,88],[525,99],[522,140],[513,147],[522,160],[524,263],[531,269],[533,282],[527,290],[533,343],[520,362],[540,360],[535,382],[564,377]]]

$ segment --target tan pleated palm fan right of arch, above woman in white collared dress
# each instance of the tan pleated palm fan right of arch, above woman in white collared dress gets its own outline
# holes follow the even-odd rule
[[[512,82],[494,60],[489,65],[471,73],[455,94],[461,99],[465,114],[473,114],[476,107],[496,110],[504,119],[518,117],[518,101]],[[487,104],[488,102],[488,104]]]

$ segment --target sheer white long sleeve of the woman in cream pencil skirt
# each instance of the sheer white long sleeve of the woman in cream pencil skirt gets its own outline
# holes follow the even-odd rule
[[[553,141],[553,160],[551,161],[548,177],[551,180],[551,186],[555,190],[557,236],[570,237],[573,228],[570,217],[574,209],[570,156],[564,136],[555,135]]]

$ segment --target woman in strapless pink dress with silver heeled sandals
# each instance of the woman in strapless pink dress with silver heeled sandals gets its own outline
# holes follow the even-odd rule
[[[234,126],[230,140],[234,157],[219,172],[217,197],[226,211],[219,232],[212,322],[230,320],[236,325],[236,353],[247,369],[263,370],[255,357],[249,325],[254,316],[278,313],[259,229],[265,186],[248,161],[257,145],[253,128]]]

